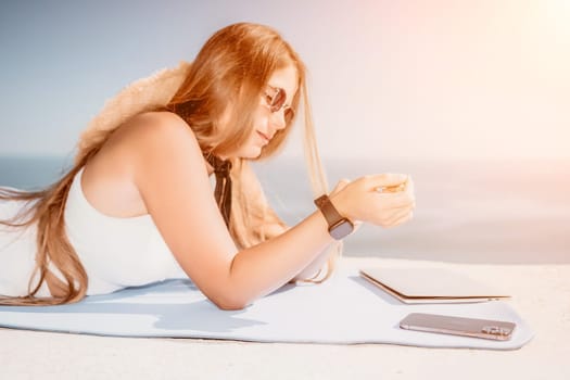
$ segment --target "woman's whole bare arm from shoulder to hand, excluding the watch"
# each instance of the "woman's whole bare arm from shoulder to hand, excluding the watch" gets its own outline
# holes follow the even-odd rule
[[[325,218],[314,212],[277,238],[238,251],[214,201],[192,131],[177,116],[168,117],[168,123],[148,128],[132,142],[132,149],[140,152],[134,162],[135,181],[176,259],[216,305],[241,308],[270,293],[300,274],[333,241]],[[367,197],[355,194],[375,183],[353,183],[333,202],[343,215],[367,218],[370,207],[363,205]],[[392,197],[392,214],[396,210],[398,215],[409,213],[408,198]],[[355,199],[359,201],[351,201]]]

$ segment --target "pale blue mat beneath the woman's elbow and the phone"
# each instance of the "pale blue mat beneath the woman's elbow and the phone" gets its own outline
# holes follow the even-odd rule
[[[510,341],[402,330],[409,313],[517,324]],[[406,305],[339,270],[322,284],[288,284],[242,311],[221,311],[187,279],[168,280],[63,306],[0,306],[0,326],[117,337],[206,338],[255,342],[391,343],[429,347],[519,349],[530,327],[503,301]]]

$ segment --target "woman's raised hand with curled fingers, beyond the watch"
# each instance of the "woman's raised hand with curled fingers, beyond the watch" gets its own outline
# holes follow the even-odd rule
[[[403,183],[404,190],[379,191],[381,188]],[[341,215],[354,221],[362,220],[384,228],[395,227],[409,220],[416,207],[414,182],[404,174],[360,177],[346,185],[343,183],[342,188],[333,191],[330,197]]]

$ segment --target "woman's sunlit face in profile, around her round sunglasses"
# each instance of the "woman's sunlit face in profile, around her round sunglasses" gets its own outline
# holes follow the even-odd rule
[[[294,66],[286,66],[276,71],[267,81],[267,93],[274,94],[276,89],[282,89],[286,93],[283,106],[271,112],[267,97],[259,96],[259,105],[253,114],[253,129],[248,141],[241,145],[236,155],[242,159],[255,159],[262,153],[263,147],[267,145],[274,135],[287,126],[284,113],[291,105],[291,101],[297,91],[299,78]]]

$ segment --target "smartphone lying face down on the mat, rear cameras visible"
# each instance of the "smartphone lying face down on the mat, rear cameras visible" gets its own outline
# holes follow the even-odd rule
[[[464,318],[448,315],[411,313],[400,321],[406,330],[508,341],[517,325],[505,320]]]

